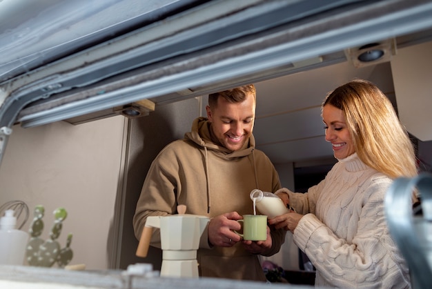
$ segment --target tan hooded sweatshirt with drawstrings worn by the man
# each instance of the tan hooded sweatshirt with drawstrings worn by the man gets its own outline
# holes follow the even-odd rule
[[[192,131],[168,144],[153,161],[133,221],[137,238],[146,217],[176,214],[180,204],[186,205],[187,214],[210,218],[232,211],[253,214],[249,198],[253,189],[275,192],[280,188],[273,164],[255,150],[253,136],[242,150],[231,152],[210,140],[209,127],[206,118],[195,119]],[[285,231],[272,229],[271,235],[273,246],[266,256],[279,251]],[[160,248],[159,230],[153,233],[151,245]],[[231,248],[210,248],[207,230],[197,259],[203,277],[266,280],[257,255],[246,252],[240,242]]]

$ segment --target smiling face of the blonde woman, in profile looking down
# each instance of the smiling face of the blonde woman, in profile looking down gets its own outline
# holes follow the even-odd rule
[[[344,159],[353,155],[355,148],[342,110],[331,104],[322,109],[322,121],[326,125],[326,141],[331,143],[336,159]]]

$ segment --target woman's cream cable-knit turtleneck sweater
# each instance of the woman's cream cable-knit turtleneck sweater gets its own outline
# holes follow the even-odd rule
[[[294,242],[315,266],[315,286],[411,288],[402,255],[389,235],[384,196],[392,180],[351,155],[308,192],[288,192],[306,214]]]

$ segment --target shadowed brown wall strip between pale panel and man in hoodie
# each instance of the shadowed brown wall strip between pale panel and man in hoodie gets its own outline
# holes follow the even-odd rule
[[[126,269],[132,263],[152,263],[161,268],[161,250],[150,247],[148,257],[135,256],[138,240],[132,228],[137,200],[150,164],[159,151],[176,139],[183,139],[192,122],[199,117],[200,97],[157,106],[147,117],[132,119],[128,132],[128,151],[123,199],[121,201],[119,242],[114,268]]]

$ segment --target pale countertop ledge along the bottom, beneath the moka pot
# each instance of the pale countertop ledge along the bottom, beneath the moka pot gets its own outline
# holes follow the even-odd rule
[[[0,288],[22,289],[274,289],[314,288],[287,283],[262,283],[215,278],[170,278],[159,277],[157,271],[139,274],[130,270],[64,270],[60,268],[39,268],[30,266],[0,266]]]

